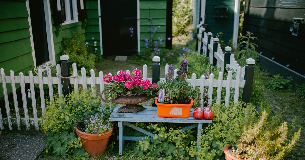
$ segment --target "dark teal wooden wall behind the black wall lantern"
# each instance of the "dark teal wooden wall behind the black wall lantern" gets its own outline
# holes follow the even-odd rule
[[[223,3],[225,7],[228,7],[228,18],[214,18],[214,8],[220,5],[220,3]],[[219,32],[223,32],[221,40],[224,40],[224,43],[226,44],[228,44],[229,39],[232,39],[233,35],[234,5],[235,0],[206,0],[205,23],[209,25],[208,32],[212,32],[214,36],[216,36]]]

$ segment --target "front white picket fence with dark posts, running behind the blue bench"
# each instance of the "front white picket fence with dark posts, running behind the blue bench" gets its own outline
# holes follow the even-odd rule
[[[211,48],[210,48],[211,49]],[[64,55],[65,56],[65,55]],[[67,57],[66,57],[67,58]],[[68,58],[67,58],[68,60]],[[247,60],[248,65],[246,66],[246,74],[247,74],[247,68],[248,68],[248,87],[246,86],[246,80],[244,80],[245,75],[242,75],[243,69],[237,66],[235,77],[232,78],[232,71],[228,71],[228,78],[223,79],[223,72],[220,72],[218,74],[218,79],[214,79],[213,73],[210,74],[209,78],[206,79],[205,76],[201,75],[200,79],[196,79],[196,73],[192,73],[192,78],[187,79],[188,82],[190,82],[195,87],[200,87],[200,93],[203,92],[205,87],[208,87],[208,104],[211,106],[213,103],[213,97],[216,96],[216,102],[220,103],[221,101],[221,93],[225,92],[225,106],[229,105],[230,102],[230,94],[232,88],[238,88],[235,89],[234,98],[231,101],[234,101],[235,103],[238,102],[239,98],[239,88],[246,88],[249,93],[246,93],[244,96],[244,93],[242,94],[243,97],[246,97],[248,101],[245,101],[248,103],[250,101],[251,91],[252,91],[252,81],[253,81],[253,64],[255,64],[255,60],[248,59]],[[143,78],[150,80],[152,83],[156,83],[158,81],[162,81],[165,78],[160,78],[160,57],[155,56],[153,57],[153,70],[152,70],[152,77],[148,77],[148,70],[147,65],[143,65]],[[164,66],[165,68],[165,75],[167,74],[168,65]],[[70,67],[69,67],[70,69]],[[64,69],[63,69],[64,70]],[[70,70],[68,70],[70,73]],[[177,70],[174,71],[174,77],[177,76]],[[107,84],[103,82],[104,73],[102,71],[99,72],[99,77],[95,77],[95,70],[90,70],[90,76],[86,75],[86,69],[81,68],[81,76],[77,73],[77,65],[75,63],[72,64],[72,74],[73,77],[70,77],[67,79],[66,83],[69,84],[62,84],[62,77],[64,77],[62,73],[62,68],[59,64],[56,65],[56,75],[57,77],[52,77],[51,69],[47,69],[47,77],[42,76],[42,70],[38,69],[38,76],[33,76],[33,72],[29,71],[29,76],[24,76],[23,73],[19,73],[19,76],[14,76],[13,70],[10,71],[10,75],[5,76],[4,69],[0,69],[1,78],[0,83],[2,83],[3,93],[4,93],[4,100],[5,100],[5,112],[1,111],[0,109],[0,129],[4,129],[4,125],[7,125],[9,129],[13,129],[12,125],[16,124],[18,129],[21,129],[21,124],[25,124],[26,130],[30,130],[30,125],[34,126],[36,130],[39,129],[39,125],[41,125],[41,119],[38,118],[37,110],[41,111],[42,113],[45,112],[45,109],[47,106],[45,104],[45,97],[44,97],[44,84],[48,84],[48,91],[49,91],[49,100],[53,100],[53,93],[57,92],[59,95],[63,95],[63,86],[69,86],[70,84],[74,84],[74,90],[78,90],[78,85],[81,84],[82,88],[87,87],[97,87],[99,85],[100,93],[102,90],[104,90],[104,85]],[[126,70],[126,73],[130,73],[129,70]],[[112,75],[111,73],[109,73]],[[117,73],[118,74],[118,73]],[[252,77],[251,77],[252,76]],[[252,78],[252,80],[251,80]],[[14,108],[16,117],[11,117],[10,114],[10,107],[9,107],[9,99],[8,99],[8,93],[6,88],[6,83],[11,83],[12,86],[12,93],[13,93],[13,102],[14,102]],[[16,83],[20,83],[21,88],[21,94],[22,98],[18,99],[16,96]],[[27,105],[27,99],[29,98],[27,95],[27,92],[25,90],[25,84],[29,84],[30,90],[28,91],[28,94],[31,94],[31,103],[32,103],[32,110],[33,113],[31,114],[32,117],[29,117],[28,113],[28,105]],[[40,106],[41,108],[37,108],[37,102],[36,102],[36,95],[35,95],[35,89],[34,84],[39,85],[39,92],[40,92]],[[58,90],[54,91],[52,85],[57,84]],[[90,85],[90,86],[89,86]],[[217,87],[217,94],[213,95],[213,87]],[[225,89],[222,89],[225,87]],[[244,92],[245,90],[243,90]],[[93,92],[93,89],[92,89]],[[99,95],[100,95],[99,93]],[[99,96],[95,95],[95,96]],[[104,95],[102,95],[104,97]],[[203,106],[203,96],[201,95],[200,104]],[[18,106],[18,101],[22,101],[23,106]],[[102,106],[105,105],[104,102],[101,101]],[[145,104],[147,105],[147,104]],[[0,106],[1,107],[1,106]],[[20,115],[19,108],[23,108],[23,115]],[[2,115],[2,113],[4,115]]]

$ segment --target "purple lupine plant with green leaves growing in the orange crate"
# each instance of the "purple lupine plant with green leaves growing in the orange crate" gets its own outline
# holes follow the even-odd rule
[[[173,78],[173,66],[169,65],[166,79],[159,81],[157,84],[157,89],[165,89],[164,101],[178,103],[177,101],[187,100],[189,97],[194,99],[197,96],[191,83],[186,81],[188,60],[186,59],[185,54],[183,54],[183,57],[184,59],[181,61],[180,71],[177,71],[178,76]]]

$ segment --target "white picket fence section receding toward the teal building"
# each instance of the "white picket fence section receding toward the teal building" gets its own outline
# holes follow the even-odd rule
[[[203,56],[208,55],[210,57],[210,64],[213,63],[213,52],[214,52],[214,56],[217,60],[216,66],[218,68],[221,69],[221,71],[224,70],[225,68],[228,69],[233,69],[236,70],[239,67],[239,64],[237,63],[237,61],[234,58],[234,54],[230,55],[230,64],[227,64],[226,66],[224,66],[224,52],[221,49],[221,45],[218,43],[217,44],[217,50],[213,50],[214,49],[214,42],[218,42],[218,38],[213,38],[210,37],[210,44],[208,43],[208,36],[212,35],[212,32],[205,32],[205,28],[200,27],[199,32],[197,34],[197,39],[198,39],[198,48],[197,48],[197,53],[198,54],[202,54]],[[202,32],[203,32],[203,37],[202,37]],[[200,44],[203,43],[203,46],[200,46]],[[201,53],[201,47],[203,47],[203,52]],[[207,52],[207,49],[209,49],[209,53]],[[226,51],[231,51],[231,47],[226,46],[225,47]],[[245,78],[243,75],[245,75],[245,70],[246,67],[242,67],[242,80]],[[235,77],[235,79],[237,78],[235,75],[233,75],[233,77]]]

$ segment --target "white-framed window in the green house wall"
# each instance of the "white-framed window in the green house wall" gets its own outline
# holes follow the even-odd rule
[[[65,24],[78,22],[76,0],[60,0],[61,9],[63,10]]]

